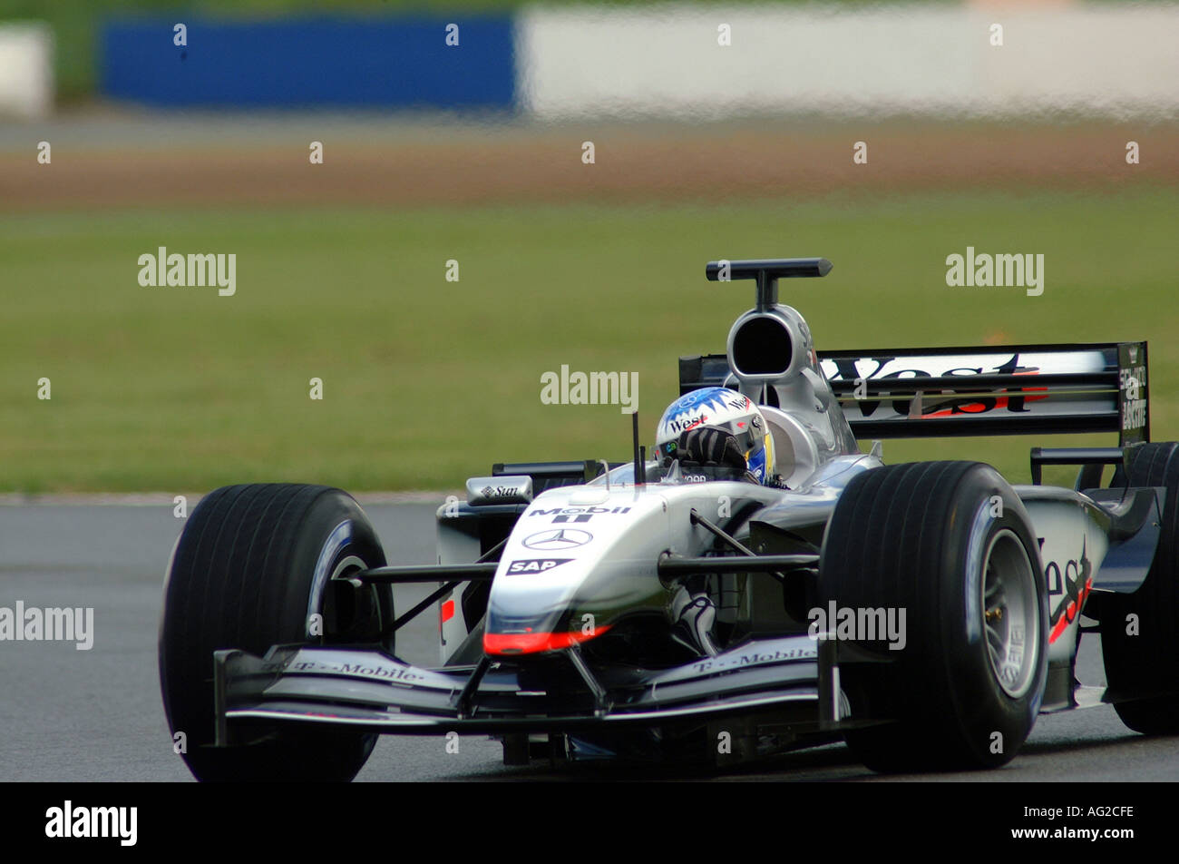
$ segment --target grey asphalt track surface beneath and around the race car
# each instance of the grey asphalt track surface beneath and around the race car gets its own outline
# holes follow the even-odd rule
[[[370,504],[390,562],[434,556],[433,504]],[[156,639],[167,556],[180,521],[171,505],[0,506],[0,607],[93,607],[94,644],[0,642],[0,781],[186,781],[191,775],[164,720]],[[407,609],[428,589],[399,589]],[[435,624],[407,626],[399,653],[436,662]],[[1105,683],[1096,637],[1082,643],[1079,674]],[[981,773],[882,778],[843,745],[802,751],[726,774],[676,766],[535,762],[507,768],[486,737],[459,739],[459,752],[432,737],[383,737],[358,780],[1177,780],[1179,738],[1147,739],[1107,706],[1041,716],[1007,767]]]

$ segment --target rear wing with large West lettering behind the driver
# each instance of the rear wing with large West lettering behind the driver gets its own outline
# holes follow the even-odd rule
[[[857,438],[1151,438],[1146,342],[821,351],[818,361]],[[736,386],[724,354],[680,358],[681,394],[716,385]]]

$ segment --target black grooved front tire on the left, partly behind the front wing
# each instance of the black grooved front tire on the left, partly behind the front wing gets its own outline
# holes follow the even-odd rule
[[[368,517],[338,489],[249,484],[200,500],[172,552],[159,633],[164,709],[198,780],[356,775],[376,735],[288,724],[251,727],[249,744],[213,747],[213,652],[381,642],[391,630],[391,590],[332,576],[384,563]]]

